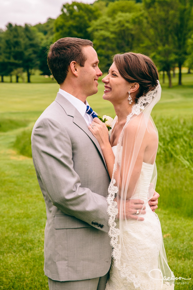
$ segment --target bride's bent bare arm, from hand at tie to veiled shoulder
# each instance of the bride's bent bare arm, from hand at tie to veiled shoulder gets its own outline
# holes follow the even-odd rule
[[[94,126],[93,126],[94,125]],[[94,118],[91,125],[88,127],[91,133],[97,139],[103,156],[105,158],[106,166],[109,172],[109,176],[112,178],[113,174],[113,167],[115,163],[115,155],[113,153],[111,144],[109,142],[109,134],[108,129],[106,128],[105,123],[101,122],[99,118]],[[140,176],[143,157],[144,157],[144,150],[145,150],[145,143],[143,145],[139,145],[136,156],[135,162],[133,160],[134,150],[136,149],[136,130],[138,129],[138,124],[132,122],[130,126],[127,126],[124,131],[123,140],[122,140],[122,154],[120,164],[117,164],[117,170],[114,173],[114,178],[116,180],[116,185],[119,185],[119,195],[121,195],[122,191],[126,191],[126,199],[132,197],[137,181]],[[131,163],[133,163],[133,168],[131,168]],[[129,181],[129,182],[128,182]]]

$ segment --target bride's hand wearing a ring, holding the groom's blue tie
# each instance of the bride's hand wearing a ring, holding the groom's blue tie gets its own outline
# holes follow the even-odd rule
[[[101,149],[109,143],[109,131],[99,118],[94,118],[92,123],[88,126],[92,135],[97,139]]]

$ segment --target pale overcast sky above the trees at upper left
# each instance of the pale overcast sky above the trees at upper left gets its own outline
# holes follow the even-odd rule
[[[94,0],[75,0],[76,2],[93,3]],[[50,18],[59,16],[62,4],[70,0],[0,0],[0,28],[6,24],[35,25],[44,23]]]

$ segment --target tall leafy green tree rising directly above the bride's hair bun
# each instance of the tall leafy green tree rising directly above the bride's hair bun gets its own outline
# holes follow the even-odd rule
[[[172,87],[171,69],[176,65],[173,41],[176,0],[144,0],[144,36],[146,54],[150,55],[159,70],[166,71]],[[170,8],[169,8],[170,7]],[[147,53],[148,51],[148,53]]]

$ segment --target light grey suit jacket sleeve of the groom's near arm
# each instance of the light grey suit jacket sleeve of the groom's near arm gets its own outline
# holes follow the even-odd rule
[[[43,118],[35,125],[31,141],[33,162],[52,204],[95,228],[92,222],[100,223],[104,227],[97,229],[108,232],[106,198],[81,187],[73,168],[72,143],[64,126]]]

